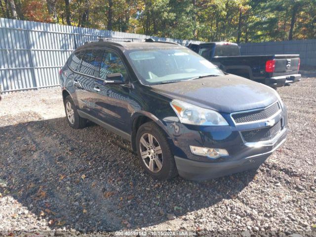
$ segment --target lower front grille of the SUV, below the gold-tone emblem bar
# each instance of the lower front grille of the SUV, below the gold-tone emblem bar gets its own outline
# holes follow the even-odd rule
[[[272,127],[241,132],[245,142],[262,142],[273,139],[282,128],[282,119]]]

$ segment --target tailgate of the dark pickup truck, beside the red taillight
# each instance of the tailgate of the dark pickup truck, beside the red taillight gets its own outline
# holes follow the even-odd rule
[[[300,58],[298,54],[276,54],[275,61],[275,71],[273,72],[273,77],[296,74]]]

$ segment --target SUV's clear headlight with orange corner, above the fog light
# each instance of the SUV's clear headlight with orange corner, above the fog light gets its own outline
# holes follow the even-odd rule
[[[228,125],[225,118],[214,110],[200,108],[181,100],[173,100],[170,105],[182,123],[205,126]]]

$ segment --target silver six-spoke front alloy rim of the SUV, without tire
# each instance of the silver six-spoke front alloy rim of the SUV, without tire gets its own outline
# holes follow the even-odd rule
[[[139,151],[146,167],[157,173],[161,170],[163,156],[157,139],[150,133],[144,133],[139,142]]]

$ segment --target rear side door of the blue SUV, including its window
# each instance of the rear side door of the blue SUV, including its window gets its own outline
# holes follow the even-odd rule
[[[74,77],[79,109],[91,116],[95,116],[94,108],[94,79],[100,70],[100,50],[87,49],[82,57],[79,73]],[[102,56],[102,55],[101,55]]]

